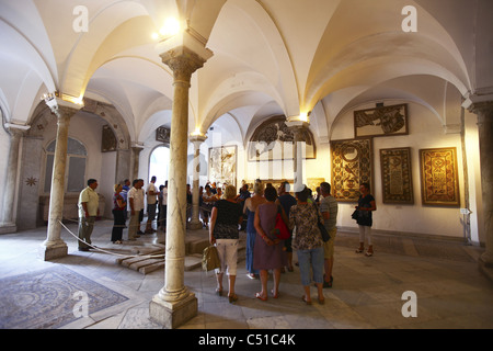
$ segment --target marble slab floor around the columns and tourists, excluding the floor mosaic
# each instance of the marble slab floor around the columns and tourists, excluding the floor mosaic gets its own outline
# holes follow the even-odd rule
[[[159,329],[149,320],[149,302],[164,285],[164,271],[145,275],[115,263],[118,257],[135,252],[134,248],[151,246],[156,235],[142,236],[134,246],[115,246],[110,242],[111,226],[112,222],[98,222],[93,234],[93,245],[106,252],[78,251],[76,238],[62,229],[69,254],[53,262],[44,262],[37,256],[46,228],[0,236],[0,280],[62,265],[128,298],[62,328]],[[68,228],[77,233],[77,225]],[[190,231],[187,236],[206,239],[207,231]],[[337,234],[334,285],[324,290],[324,305],[319,305],[317,298],[311,306],[301,301],[297,268],[282,275],[279,298],[262,302],[254,298],[260,282],[246,278],[241,261],[236,304],[215,295],[211,273],[199,268],[185,272],[185,284],[198,299],[198,315],[181,329],[493,328],[493,283],[480,273],[477,263],[482,249],[448,241],[376,236],[375,256],[367,258],[355,253],[357,241],[354,234]],[[402,314],[410,304],[402,298],[408,291],[415,293],[416,317],[405,318]],[[316,297],[314,287],[312,293]]]

